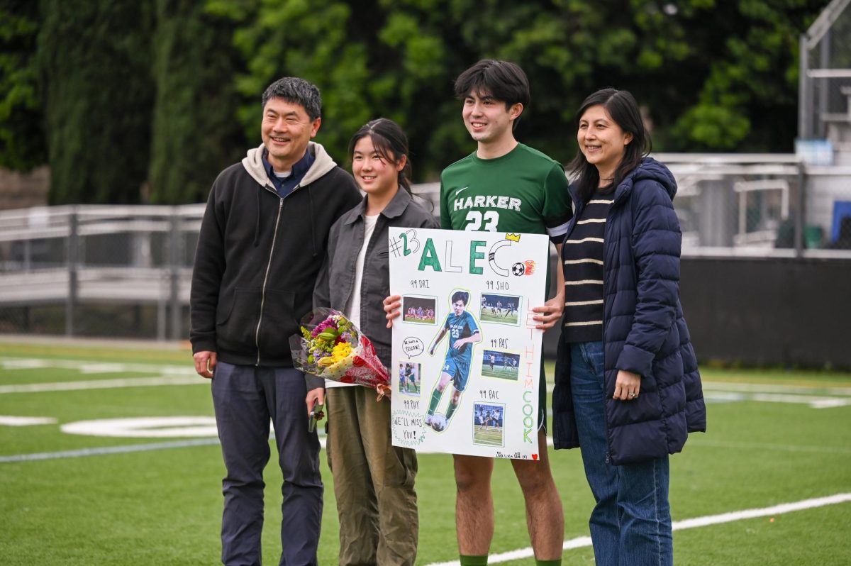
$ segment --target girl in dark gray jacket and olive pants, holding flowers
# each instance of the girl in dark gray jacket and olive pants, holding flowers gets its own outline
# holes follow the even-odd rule
[[[391,226],[439,225],[410,195],[408,140],[396,123],[386,118],[367,123],[352,137],[349,153],[352,173],[366,196],[331,227],[313,306],[346,314],[396,375],[398,369],[390,368],[391,329],[382,305],[390,294],[387,232]],[[326,387],[340,564],[414,564],[417,460],[414,450],[392,445],[390,400],[376,402],[375,392],[363,386],[328,381]]]

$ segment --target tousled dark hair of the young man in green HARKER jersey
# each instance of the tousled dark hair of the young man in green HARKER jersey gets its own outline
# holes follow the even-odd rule
[[[471,92],[488,94],[494,100],[505,102],[505,110],[518,102],[526,108],[531,100],[526,73],[509,61],[483,59],[462,72],[455,79],[455,97],[464,100]]]

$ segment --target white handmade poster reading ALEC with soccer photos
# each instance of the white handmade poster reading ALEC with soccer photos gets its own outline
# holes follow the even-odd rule
[[[393,445],[536,460],[549,239],[391,228]]]

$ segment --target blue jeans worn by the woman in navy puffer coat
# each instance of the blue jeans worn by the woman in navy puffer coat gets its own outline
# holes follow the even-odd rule
[[[670,566],[668,457],[625,466],[608,462],[603,342],[572,343],[570,357],[582,463],[597,501],[589,521],[597,566]]]

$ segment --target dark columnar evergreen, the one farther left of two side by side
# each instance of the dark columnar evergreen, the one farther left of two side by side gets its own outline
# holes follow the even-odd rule
[[[151,153],[152,9],[42,0],[49,203],[138,203]]]

